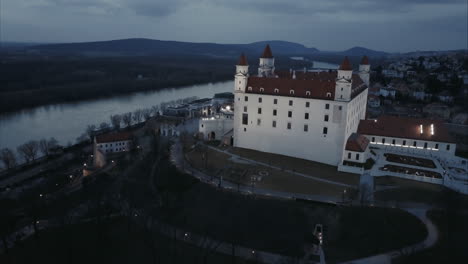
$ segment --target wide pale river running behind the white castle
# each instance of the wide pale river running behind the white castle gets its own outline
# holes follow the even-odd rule
[[[315,68],[337,68],[337,65],[316,62]],[[150,108],[162,102],[197,96],[212,97],[215,93],[233,90],[233,81],[167,88],[130,95],[101,98],[76,103],[36,107],[30,110],[0,115],[0,148],[16,147],[42,138],[56,138],[60,144],[75,143],[88,125],[110,123],[110,115]]]

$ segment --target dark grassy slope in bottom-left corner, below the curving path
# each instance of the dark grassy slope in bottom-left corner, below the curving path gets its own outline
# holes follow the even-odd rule
[[[231,256],[212,254],[207,263],[231,261]],[[127,221],[120,218],[99,226],[90,222],[44,230],[37,240],[29,238],[11,249],[8,256],[0,255],[0,263],[203,263],[203,260],[195,246],[174,244],[170,238],[144,232],[134,225],[129,231]],[[235,263],[249,262],[236,259]]]

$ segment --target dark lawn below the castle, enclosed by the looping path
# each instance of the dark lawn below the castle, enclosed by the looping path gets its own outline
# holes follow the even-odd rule
[[[398,249],[426,236],[417,218],[397,209],[255,198],[203,183],[192,183],[173,209],[165,221],[191,232],[289,256],[302,256],[315,224],[323,224],[328,263]]]

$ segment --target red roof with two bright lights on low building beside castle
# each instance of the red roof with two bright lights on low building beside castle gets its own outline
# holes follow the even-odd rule
[[[422,134],[421,124],[423,125]],[[431,135],[431,124],[434,125],[434,135]],[[358,133],[416,140],[455,142],[444,123],[441,120],[435,119],[381,116],[377,122],[374,120],[361,120],[358,126]]]

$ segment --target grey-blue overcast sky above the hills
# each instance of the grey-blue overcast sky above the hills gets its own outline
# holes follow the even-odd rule
[[[2,41],[152,38],[321,50],[467,48],[468,0],[0,0]]]

